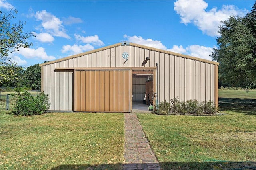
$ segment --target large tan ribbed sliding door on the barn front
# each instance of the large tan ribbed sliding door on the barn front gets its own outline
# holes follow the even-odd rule
[[[130,70],[75,73],[75,111],[130,112]]]

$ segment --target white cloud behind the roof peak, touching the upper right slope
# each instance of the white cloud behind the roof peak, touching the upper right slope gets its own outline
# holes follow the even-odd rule
[[[124,35],[124,38],[126,38],[127,41],[132,42],[132,43],[146,45],[148,47],[153,47],[153,48],[157,48],[157,49],[166,50],[166,47],[159,40],[143,39],[142,37],[136,36],[136,35],[131,37],[131,36],[128,36],[126,34]]]

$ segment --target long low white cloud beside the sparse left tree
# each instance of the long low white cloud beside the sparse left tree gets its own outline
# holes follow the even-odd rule
[[[37,49],[32,48],[19,48],[19,51],[15,52],[15,54],[20,54],[26,57],[27,59],[42,59],[45,61],[50,61],[56,59],[52,55],[47,55],[44,51],[43,47],[39,47]]]

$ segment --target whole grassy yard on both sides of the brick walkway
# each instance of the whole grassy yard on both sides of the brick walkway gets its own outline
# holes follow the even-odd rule
[[[219,96],[221,115],[138,114],[163,170],[256,167],[256,90]],[[0,118],[0,169],[123,168],[122,113]]]

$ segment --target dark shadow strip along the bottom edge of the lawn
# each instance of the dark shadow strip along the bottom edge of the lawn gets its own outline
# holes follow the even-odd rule
[[[256,162],[162,162],[161,170],[255,170]],[[156,164],[59,165],[51,170],[157,170]]]

